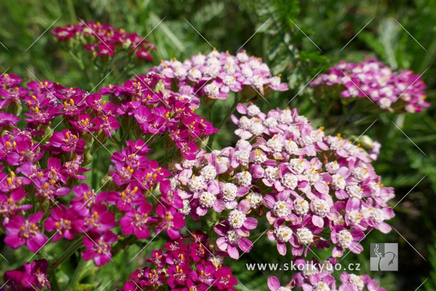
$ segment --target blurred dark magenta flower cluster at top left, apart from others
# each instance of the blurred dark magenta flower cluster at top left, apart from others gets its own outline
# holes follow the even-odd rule
[[[127,33],[109,24],[100,22],[80,22],[57,27],[51,31],[58,41],[73,40],[83,45],[84,49],[98,57],[113,56],[119,50],[135,54],[139,59],[151,61],[154,45],[140,37],[136,32]]]

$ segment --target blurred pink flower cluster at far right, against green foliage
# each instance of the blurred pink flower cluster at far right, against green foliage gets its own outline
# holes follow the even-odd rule
[[[310,83],[311,86],[335,85],[345,86],[341,95],[345,98],[371,98],[382,109],[393,111],[392,107],[409,113],[421,112],[423,107],[429,107],[425,102],[426,85],[420,75],[410,70],[392,71],[375,58],[367,58],[365,62],[351,63],[341,61],[338,65],[328,69]],[[401,99],[400,107],[394,104]]]

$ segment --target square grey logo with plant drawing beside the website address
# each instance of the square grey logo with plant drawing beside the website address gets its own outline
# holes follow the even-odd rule
[[[371,271],[398,271],[398,243],[371,243]]]

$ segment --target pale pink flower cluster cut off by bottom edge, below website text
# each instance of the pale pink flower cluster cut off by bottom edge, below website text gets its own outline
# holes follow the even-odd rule
[[[292,276],[291,281],[285,286],[280,285],[277,277],[268,278],[270,291],[291,291],[294,287],[300,287],[303,291],[362,291],[365,287],[368,291],[386,291],[377,287],[378,283],[369,275],[356,275],[343,272],[340,275],[340,282],[332,276],[335,271],[336,259],[329,258],[323,261],[306,261],[297,258],[293,264],[300,268],[301,272]],[[300,269],[299,269],[300,270]],[[338,289],[336,289],[338,286]]]

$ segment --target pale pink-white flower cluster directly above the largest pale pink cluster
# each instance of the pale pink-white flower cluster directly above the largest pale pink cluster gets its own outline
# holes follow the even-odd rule
[[[189,85],[199,95],[212,99],[226,99],[229,92],[255,95],[253,88],[262,95],[271,90],[288,90],[280,75],[272,76],[261,58],[249,56],[245,50],[233,56],[214,49],[208,55],[194,55],[183,63],[175,58],[162,61],[150,71],[169,78],[171,82],[167,86],[174,91]]]

